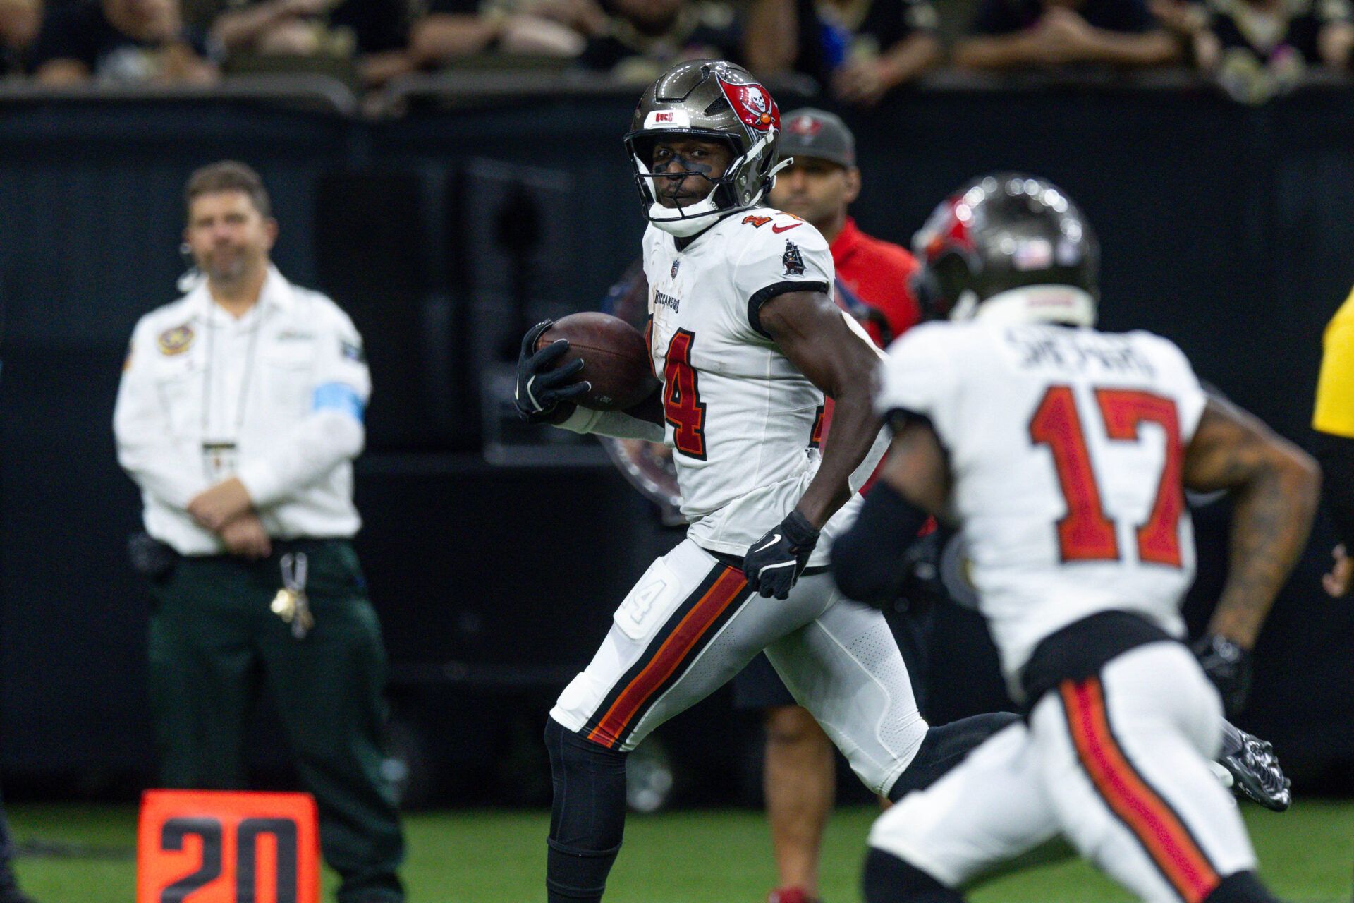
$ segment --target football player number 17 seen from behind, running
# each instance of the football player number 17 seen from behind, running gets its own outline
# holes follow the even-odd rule
[[[875,408],[892,447],[833,566],[845,593],[883,602],[899,579],[883,550],[926,512],[961,525],[1025,719],[876,822],[865,899],[959,902],[1062,834],[1143,900],[1270,903],[1209,759],[1307,539],[1316,464],[1206,395],[1166,338],[1093,329],[1095,240],[1047,181],[979,179],[915,246],[933,310],[959,322],[890,348]],[[1186,487],[1235,498],[1231,567],[1193,654]]]

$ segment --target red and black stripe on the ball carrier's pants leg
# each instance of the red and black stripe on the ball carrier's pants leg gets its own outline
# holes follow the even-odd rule
[[[635,724],[681,680],[750,594],[741,570],[715,565],[650,640],[639,661],[616,681],[580,734],[608,749],[620,749]]]

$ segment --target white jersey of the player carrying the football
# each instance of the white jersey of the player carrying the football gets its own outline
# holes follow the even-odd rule
[[[833,257],[812,225],[770,208],[728,215],[682,250],[650,226],[643,248],[650,353],[688,536],[743,555],[795,508],[821,460],[823,393],[761,329],[758,310],[785,291],[831,295]],[[876,443],[853,489],[884,447]],[[825,525],[811,566],[826,563],[856,498]]]

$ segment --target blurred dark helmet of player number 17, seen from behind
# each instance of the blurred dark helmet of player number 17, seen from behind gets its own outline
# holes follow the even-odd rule
[[[1095,324],[1099,244],[1057,185],[1016,172],[974,179],[913,237],[929,318]]]

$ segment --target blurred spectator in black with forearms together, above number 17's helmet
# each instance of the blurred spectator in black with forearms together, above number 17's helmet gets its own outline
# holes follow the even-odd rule
[[[1181,54],[1145,0],[979,0],[953,60],[967,69],[1158,66]]]

